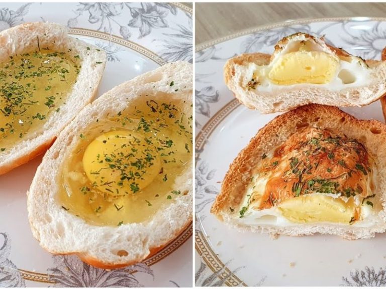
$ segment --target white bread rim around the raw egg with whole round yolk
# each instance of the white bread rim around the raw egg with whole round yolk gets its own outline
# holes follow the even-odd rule
[[[170,81],[174,85],[170,86]],[[176,62],[140,75],[108,91],[85,106],[59,134],[43,157],[27,193],[31,230],[40,245],[53,254],[77,254],[85,262],[101,268],[118,268],[144,260],[166,246],[192,220],[192,162],[175,180],[173,189],[181,190],[141,223],[121,226],[95,226],[63,210],[56,201],[60,190],[61,166],[76,147],[77,136],[95,122],[123,111],[141,95],[167,95],[183,100],[186,115],[191,114],[191,64]],[[189,114],[188,114],[189,113]],[[186,193],[185,193],[186,192]],[[122,255],[119,251],[126,251]],[[126,254],[124,252],[124,254]]]

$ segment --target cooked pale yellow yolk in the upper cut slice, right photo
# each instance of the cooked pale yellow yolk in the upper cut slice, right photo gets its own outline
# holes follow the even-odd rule
[[[336,74],[339,60],[321,51],[297,51],[280,56],[268,77],[278,85],[329,83]]]

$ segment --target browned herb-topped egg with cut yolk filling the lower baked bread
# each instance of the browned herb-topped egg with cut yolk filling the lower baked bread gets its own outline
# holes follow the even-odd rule
[[[292,222],[351,224],[362,205],[373,207],[372,162],[358,140],[306,126],[261,160],[246,208],[276,207]]]

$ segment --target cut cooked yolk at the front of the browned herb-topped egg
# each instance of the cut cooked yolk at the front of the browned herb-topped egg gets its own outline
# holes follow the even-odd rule
[[[325,195],[304,195],[287,199],[278,206],[281,214],[291,222],[333,222],[349,224],[358,219],[359,208],[350,198],[347,203],[340,198]]]

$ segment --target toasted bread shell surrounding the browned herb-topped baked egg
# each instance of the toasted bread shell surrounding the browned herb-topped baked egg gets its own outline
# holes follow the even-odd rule
[[[381,196],[383,211],[380,217],[383,223],[369,229],[353,226],[336,227],[328,225],[304,224],[291,227],[248,226],[236,222],[238,211],[231,208],[240,206],[245,189],[262,155],[281,145],[299,127],[317,124],[321,128],[336,129],[350,138],[358,139],[367,152],[374,157],[377,168],[376,194]],[[373,237],[375,232],[386,230],[386,125],[377,120],[359,120],[334,106],[309,104],[276,116],[261,128],[250,140],[229,167],[222,183],[221,192],[211,208],[211,213],[222,221],[243,230],[268,232],[271,234],[308,235],[314,233],[337,234],[348,239]]]

